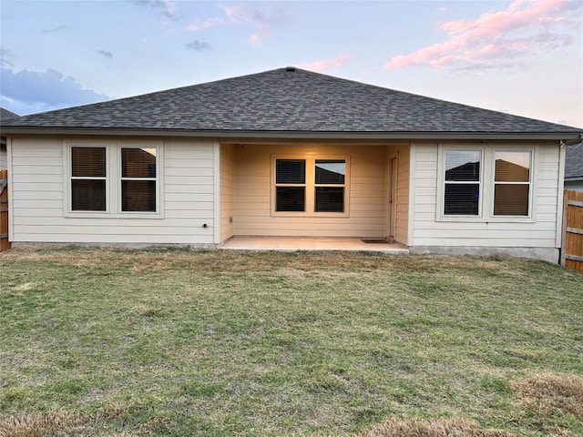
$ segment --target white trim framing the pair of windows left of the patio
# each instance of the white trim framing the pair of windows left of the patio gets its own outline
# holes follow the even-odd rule
[[[106,210],[74,211],[71,207],[71,147],[106,147]],[[156,212],[121,210],[121,149],[156,148]],[[63,141],[63,195],[64,216],[78,219],[164,219],[163,141],[99,141],[75,139]]]

